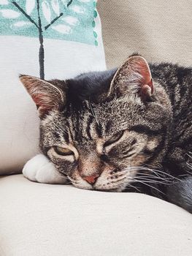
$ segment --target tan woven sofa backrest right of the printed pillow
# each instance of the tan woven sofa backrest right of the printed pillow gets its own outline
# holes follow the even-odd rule
[[[100,0],[109,68],[139,52],[147,61],[192,65],[192,2],[188,0]]]

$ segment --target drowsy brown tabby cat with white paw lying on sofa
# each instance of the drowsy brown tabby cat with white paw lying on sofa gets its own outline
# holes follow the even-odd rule
[[[42,150],[26,178],[142,192],[192,213],[192,68],[133,54],[118,69],[20,80],[38,108]]]

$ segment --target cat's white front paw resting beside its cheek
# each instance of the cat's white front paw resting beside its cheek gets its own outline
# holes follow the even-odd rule
[[[30,181],[47,184],[68,184],[66,176],[55,169],[55,166],[43,154],[31,158],[23,167],[23,176]]]

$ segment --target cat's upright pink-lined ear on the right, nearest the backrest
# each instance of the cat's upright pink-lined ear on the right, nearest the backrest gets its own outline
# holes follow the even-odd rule
[[[115,73],[108,96],[138,94],[147,99],[154,93],[150,67],[142,56],[129,57]]]

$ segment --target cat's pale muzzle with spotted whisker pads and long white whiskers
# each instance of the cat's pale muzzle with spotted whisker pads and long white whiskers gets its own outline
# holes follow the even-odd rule
[[[156,185],[172,184],[173,176],[162,170],[150,169],[149,167],[128,167],[124,170],[101,173],[94,184],[89,184],[78,173],[72,181],[74,187],[80,189],[97,190],[104,192],[139,192],[139,187],[147,186],[160,192]]]

